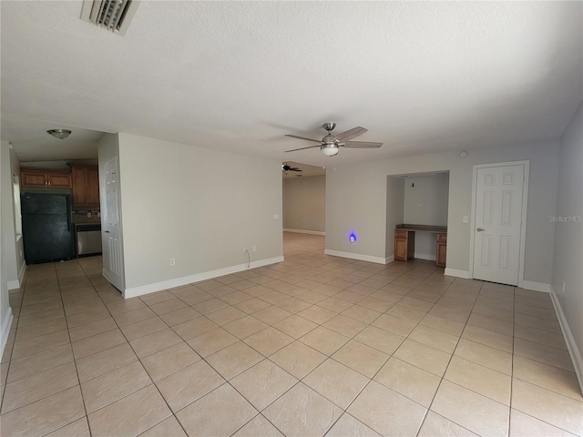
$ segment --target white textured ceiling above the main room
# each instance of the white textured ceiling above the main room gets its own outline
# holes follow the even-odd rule
[[[123,37],[81,5],[0,2],[2,138],[30,159],[46,125],[281,161],[326,121],[384,142],[340,164],[557,138],[583,98],[581,2],[142,1]]]

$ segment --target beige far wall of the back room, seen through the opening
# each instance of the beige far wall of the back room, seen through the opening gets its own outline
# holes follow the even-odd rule
[[[326,230],[326,177],[283,182],[283,229]]]

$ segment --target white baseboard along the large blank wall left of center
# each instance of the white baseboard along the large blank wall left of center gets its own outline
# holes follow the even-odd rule
[[[156,291],[161,290],[173,289],[175,287],[181,287],[183,285],[188,285],[193,282],[200,282],[201,280],[219,278],[220,276],[230,275],[231,273],[237,273],[238,271],[268,266],[270,264],[275,264],[281,261],[283,261],[282,256],[269,259],[260,259],[259,261],[252,261],[249,268],[247,267],[247,264],[239,264],[236,266],[225,267],[224,269],[205,271],[202,273],[197,273],[195,275],[183,276],[182,278],[163,280],[161,282],[156,282],[153,284],[127,288],[126,290],[124,290],[123,295],[125,299],[135,298],[137,296],[143,296],[144,294],[155,293]]]

